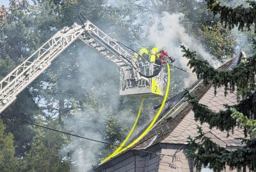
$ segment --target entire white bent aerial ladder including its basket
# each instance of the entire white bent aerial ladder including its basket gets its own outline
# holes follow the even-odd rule
[[[153,75],[157,64],[132,61],[131,55],[115,39],[110,38],[92,22],[84,25],[74,24],[64,27],[38,48],[26,61],[0,82],[0,113],[15,101],[17,95],[45,71],[51,62],[70,44],[80,38],[108,61],[120,67],[120,95],[122,96],[163,96],[163,70],[154,78],[141,76]]]

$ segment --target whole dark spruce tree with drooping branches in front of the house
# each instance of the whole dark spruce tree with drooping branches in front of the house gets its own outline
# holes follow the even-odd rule
[[[221,6],[218,1],[208,0],[207,7],[213,11],[214,15],[220,14],[221,22],[225,23],[229,29],[238,25],[238,29],[244,27],[250,29],[255,24],[254,1],[250,1],[250,7],[237,6],[230,8]],[[216,127],[221,131],[232,131],[234,127],[244,128],[244,134],[248,138],[242,139],[245,146],[237,150],[229,151],[213,143],[206,138],[202,131],[196,138],[189,138],[188,156],[193,157],[197,171],[202,165],[209,164],[214,171],[221,171],[228,165],[237,171],[246,169],[255,171],[256,169],[256,148],[255,148],[255,71],[256,55],[249,57],[245,63],[241,63],[230,71],[218,71],[212,68],[207,61],[196,58],[195,52],[183,47],[184,56],[189,59],[188,65],[193,68],[199,78],[204,79],[205,85],[212,83],[214,88],[223,86],[225,94],[237,92],[238,104],[227,106],[227,110],[215,113],[204,104],[198,103],[195,97],[188,96],[189,102],[193,104],[195,119],[201,123],[207,122],[210,127]],[[216,92],[215,92],[216,93]],[[196,140],[201,140],[200,142]]]

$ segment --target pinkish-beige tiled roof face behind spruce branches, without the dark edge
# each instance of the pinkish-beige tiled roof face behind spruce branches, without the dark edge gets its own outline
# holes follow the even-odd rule
[[[217,94],[214,96],[214,88],[211,87],[204,96],[200,99],[199,103],[207,105],[212,111],[225,110],[223,104],[234,105],[237,103],[236,93],[228,94],[224,96],[224,89],[217,89]],[[172,123],[172,122],[171,122]],[[192,110],[184,117],[179,125],[175,127],[175,130],[170,132],[161,143],[186,143],[189,136],[195,136],[197,134],[196,125],[200,125],[200,122],[194,120],[194,113]],[[234,133],[229,133],[230,136],[227,138],[227,134],[224,131],[213,128],[209,129],[209,124],[204,123],[201,125],[204,133],[211,132],[217,136],[227,146],[239,146],[240,143],[235,138],[243,138],[244,133],[242,129],[234,129]],[[239,145],[237,145],[239,144]]]

